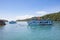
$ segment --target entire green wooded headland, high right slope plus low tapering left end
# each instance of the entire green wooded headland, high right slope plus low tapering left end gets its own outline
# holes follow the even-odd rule
[[[24,19],[24,20],[16,20],[16,21],[29,21],[29,20],[32,20],[32,19],[36,19],[37,17],[32,17],[32,18],[29,18],[29,19]],[[44,16],[41,16],[40,17],[41,19],[51,19],[53,21],[60,21],[60,12],[57,12],[57,13],[50,13],[50,14],[47,14],[47,15],[44,15]]]

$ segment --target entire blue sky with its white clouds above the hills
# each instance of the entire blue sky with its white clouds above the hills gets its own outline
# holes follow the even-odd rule
[[[0,19],[25,19],[59,11],[60,0],[0,0]]]

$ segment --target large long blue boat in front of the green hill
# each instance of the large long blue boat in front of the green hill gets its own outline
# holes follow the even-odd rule
[[[29,20],[27,21],[28,25],[52,25],[53,21],[49,19],[40,19],[40,20]]]

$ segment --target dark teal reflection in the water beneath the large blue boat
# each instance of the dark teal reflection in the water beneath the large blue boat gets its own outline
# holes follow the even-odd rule
[[[41,30],[51,30],[53,25],[40,25],[40,26],[30,26],[28,25],[27,28],[31,31],[41,31]]]

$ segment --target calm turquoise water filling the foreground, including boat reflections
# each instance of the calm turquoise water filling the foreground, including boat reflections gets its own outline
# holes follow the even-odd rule
[[[60,22],[29,26],[26,22],[0,27],[0,40],[60,40]]]

